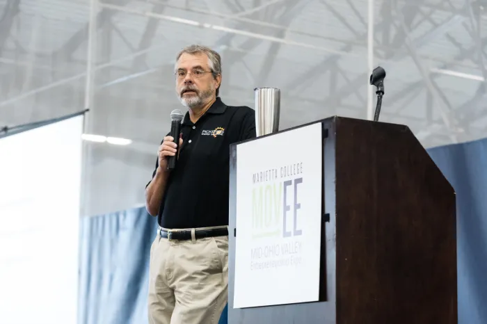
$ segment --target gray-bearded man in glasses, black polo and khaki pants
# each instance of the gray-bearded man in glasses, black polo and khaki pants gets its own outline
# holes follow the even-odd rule
[[[191,45],[177,55],[176,92],[189,110],[175,170],[173,138],[159,147],[146,208],[159,230],[150,251],[151,324],[218,323],[227,302],[230,144],[255,137],[255,113],[223,104],[221,59]]]

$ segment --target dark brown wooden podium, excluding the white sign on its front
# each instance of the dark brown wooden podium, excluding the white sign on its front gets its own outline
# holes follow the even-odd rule
[[[233,308],[237,143],[230,149],[228,323],[457,323],[452,186],[406,126],[340,117],[318,122],[324,222],[316,284],[323,301]],[[301,143],[289,154],[305,150],[306,139]]]

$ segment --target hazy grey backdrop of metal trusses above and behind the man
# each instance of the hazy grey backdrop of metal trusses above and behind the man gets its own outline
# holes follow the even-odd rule
[[[0,126],[90,108],[83,215],[143,203],[187,44],[223,59],[221,97],[253,106],[282,90],[280,128],[370,118],[381,65],[381,121],[424,147],[487,137],[486,0],[0,0]],[[305,149],[305,147],[303,147]]]

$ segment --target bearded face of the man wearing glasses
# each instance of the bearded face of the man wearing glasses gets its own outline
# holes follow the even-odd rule
[[[176,93],[188,108],[201,107],[215,97],[221,76],[213,77],[206,54],[182,54],[176,64]]]

